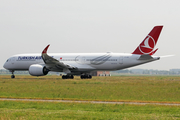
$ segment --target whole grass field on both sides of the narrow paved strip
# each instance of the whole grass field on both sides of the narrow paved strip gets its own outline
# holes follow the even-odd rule
[[[179,76],[0,76],[0,97],[180,103]],[[180,119],[179,106],[0,101],[0,119]]]

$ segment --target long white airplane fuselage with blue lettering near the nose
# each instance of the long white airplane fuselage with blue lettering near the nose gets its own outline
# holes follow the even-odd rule
[[[49,56],[78,68],[71,70],[74,73],[98,70],[120,70],[159,59],[159,57],[152,56],[153,59],[138,60],[141,55],[125,53],[49,53]],[[41,58],[41,54],[14,55],[6,61],[4,68],[10,71],[29,70],[29,67],[33,64],[45,65]],[[54,69],[50,67],[48,69],[56,72],[63,72],[63,69]]]

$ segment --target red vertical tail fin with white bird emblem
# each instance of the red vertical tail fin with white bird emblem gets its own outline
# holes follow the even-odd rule
[[[157,49],[154,51],[153,49],[156,46],[162,28],[163,26],[155,26],[132,54],[153,55],[157,51]]]

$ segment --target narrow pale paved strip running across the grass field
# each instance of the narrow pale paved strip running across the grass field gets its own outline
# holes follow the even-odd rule
[[[93,104],[132,104],[132,105],[164,105],[180,106],[180,103],[158,103],[158,102],[112,102],[112,101],[83,101],[83,100],[46,100],[46,99],[15,99],[0,98],[0,101],[30,101],[30,102],[64,102],[64,103],[93,103]]]

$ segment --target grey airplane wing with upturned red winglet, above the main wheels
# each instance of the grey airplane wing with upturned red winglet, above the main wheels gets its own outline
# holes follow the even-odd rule
[[[47,68],[50,70],[54,70],[54,69],[62,69],[63,71],[69,73],[69,69],[76,69],[76,67],[65,64],[63,62],[60,62],[58,60],[56,60],[55,58],[49,56],[47,54],[47,49],[49,48],[50,45],[48,45],[42,52],[41,57],[44,61],[44,63],[46,64]]]

